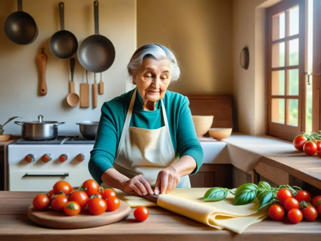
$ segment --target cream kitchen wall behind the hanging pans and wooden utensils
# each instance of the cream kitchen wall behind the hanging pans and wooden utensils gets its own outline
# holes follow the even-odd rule
[[[102,73],[105,93],[98,95],[97,108],[69,107],[66,96],[70,81],[69,59],[59,59],[49,50],[50,37],[58,30],[58,3],[60,0],[22,1],[23,11],[29,13],[38,25],[39,35],[29,45],[17,45],[11,42],[0,30],[0,124],[9,117],[20,116],[19,121],[37,121],[43,115],[44,121],[64,121],[58,127],[59,135],[80,135],[81,121],[99,121],[101,105],[132,86],[126,72],[126,65],[136,49],[136,1],[135,0],[100,0],[99,30],[100,34],[112,41],[116,50],[113,65]],[[79,44],[87,36],[94,34],[93,0],[64,0],[65,29],[72,31]],[[17,11],[16,1],[0,2],[0,25],[5,18]],[[39,71],[36,55],[44,48],[48,56],[46,82],[48,93],[40,96]],[[79,94],[79,85],[85,83],[85,70],[80,65],[76,54],[75,91]],[[96,74],[100,81],[100,74]],[[88,72],[88,82],[94,83],[94,73]],[[21,134],[21,126],[14,121],[4,126],[4,134]]]

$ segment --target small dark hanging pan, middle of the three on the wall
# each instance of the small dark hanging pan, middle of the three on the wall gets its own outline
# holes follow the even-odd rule
[[[65,4],[61,2],[58,6],[60,31],[52,35],[49,41],[49,48],[50,51],[58,58],[70,58],[78,49],[78,40],[72,32],[65,30]]]

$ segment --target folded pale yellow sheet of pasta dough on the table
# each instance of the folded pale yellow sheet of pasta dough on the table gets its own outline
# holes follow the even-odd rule
[[[247,205],[234,206],[234,195],[228,194],[225,200],[204,202],[202,198],[208,188],[176,188],[166,195],[159,195],[157,204],[147,201],[135,194],[125,194],[120,190],[117,197],[126,201],[131,207],[160,206],[187,218],[204,223],[217,229],[229,229],[242,233],[244,229],[265,219],[267,208],[257,211],[257,199]]]

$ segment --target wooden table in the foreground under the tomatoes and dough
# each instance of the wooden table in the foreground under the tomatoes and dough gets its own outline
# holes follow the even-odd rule
[[[149,218],[134,220],[129,217],[115,224],[76,230],[42,228],[33,224],[26,211],[38,192],[0,192],[1,241],[100,241],[100,240],[309,240],[321,237],[320,222],[301,222],[297,225],[264,220],[251,225],[242,234],[216,230],[161,208],[149,208]]]

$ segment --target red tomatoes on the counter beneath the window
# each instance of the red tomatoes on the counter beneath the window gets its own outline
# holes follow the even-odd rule
[[[299,151],[304,151],[308,156],[313,156],[317,153],[321,157],[321,140],[310,138],[305,133],[293,139],[293,146]]]

